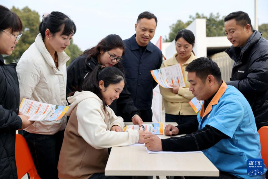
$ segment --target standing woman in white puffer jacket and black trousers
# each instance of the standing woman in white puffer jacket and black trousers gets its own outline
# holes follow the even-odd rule
[[[39,25],[40,34],[23,53],[17,65],[20,100],[66,106],[66,62],[64,49],[76,32],[74,22],[64,13],[52,12]],[[66,127],[60,120],[36,121],[25,128],[25,137],[42,179],[58,178],[58,159]]]

